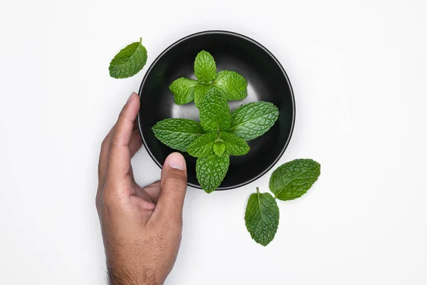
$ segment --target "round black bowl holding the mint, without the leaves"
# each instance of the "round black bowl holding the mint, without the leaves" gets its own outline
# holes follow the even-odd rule
[[[194,103],[176,105],[169,85],[181,76],[194,78],[194,58],[205,50],[214,56],[218,71],[241,73],[248,81],[248,97],[229,102],[230,109],[254,101],[268,101],[278,106],[279,119],[267,133],[248,142],[247,155],[231,157],[227,175],[218,190],[241,187],[268,172],[285,152],[295,123],[295,100],[292,86],[279,61],[267,48],[253,39],[229,31],[204,31],[182,38],[169,46],[149,67],[139,97],[139,131],[147,152],[162,167],[167,155],[175,150],[154,137],[152,126],[166,118],[199,120]],[[196,159],[184,153],[188,181],[200,188],[196,179]]]

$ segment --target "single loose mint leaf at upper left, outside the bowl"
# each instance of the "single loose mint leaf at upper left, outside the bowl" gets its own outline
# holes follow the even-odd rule
[[[142,46],[142,39],[139,42],[131,43],[123,48],[112,58],[110,63],[110,76],[112,78],[127,78],[135,76],[147,63],[147,50]]]

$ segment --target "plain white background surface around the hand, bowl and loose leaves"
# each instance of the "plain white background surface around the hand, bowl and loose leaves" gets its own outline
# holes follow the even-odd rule
[[[427,284],[424,3],[1,1],[0,283],[105,284],[100,142],[164,48],[224,29],[283,64],[297,120],[280,164],[310,157],[322,175],[279,202],[268,247],[243,217],[271,171],[237,190],[189,188],[166,284]],[[147,66],[110,78],[111,58],[140,36]],[[141,185],[159,178],[145,150],[132,163]]]

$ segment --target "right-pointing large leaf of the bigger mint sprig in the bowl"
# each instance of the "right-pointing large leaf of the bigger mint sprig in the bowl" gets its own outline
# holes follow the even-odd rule
[[[279,110],[273,103],[248,103],[231,113],[231,128],[228,132],[243,140],[253,140],[270,130],[278,116]]]

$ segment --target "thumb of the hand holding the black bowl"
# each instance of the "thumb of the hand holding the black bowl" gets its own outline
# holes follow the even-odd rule
[[[162,168],[160,197],[155,210],[161,219],[182,220],[186,183],[184,157],[179,152],[173,152],[166,158]]]

